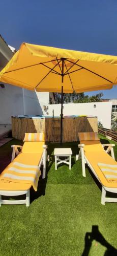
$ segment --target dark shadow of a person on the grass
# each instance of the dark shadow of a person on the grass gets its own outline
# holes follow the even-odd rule
[[[104,256],[117,255],[117,250],[105,240],[105,238],[103,237],[103,235],[99,231],[97,225],[92,226],[92,232],[86,232],[85,233],[84,240],[85,240],[85,246],[84,246],[84,250],[83,250],[83,253],[82,253],[81,256],[88,256],[89,255],[93,240],[96,240],[98,243],[100,243],[101,245],[106,247],[106,251],[104,253]]]

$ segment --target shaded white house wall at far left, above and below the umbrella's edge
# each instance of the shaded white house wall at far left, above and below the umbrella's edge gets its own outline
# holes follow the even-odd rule
[[[0,70],[12,58],[13,52],[0,36]],[[22,89],[9,84],[0,87],[0,124],[11,124],[12,115],[23,115]]]

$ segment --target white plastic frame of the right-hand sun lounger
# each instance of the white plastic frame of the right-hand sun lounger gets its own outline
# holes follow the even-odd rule
[[[103,147],[108,146],[107,150],[106,150],[106,153],[111,152],[111,157],[114,159],[113,146],[115,146],[115,144],[103,144],[102,146]],[[81,161],[82,161],[82,176],[86,177],[86,174],[85,174],[85,164],[87,164],[91,168],[93,174],[96,176],[98,181],[100,182],[100,180],[99,180],[99,178],[98,178],[94,168],[92,167],[91,163],[85,157],[85,154],[84,154],[84,144],[79,144],[78,147],[80,148],[80,150],[79,150],[79,154],[78,154],[77,160],[81,159]],[[101,185],[102,185],[102,183],[101,183]],[[106,191],[109,191],[111,193],[117,193],[117,188],[109,188],[109,187],[105,187],[105,186],[102,185],[101,204],[104,205],[105,202],[113,202],[113,203],[117,202],[117,198],[108,198],[108,197],[106,197]]]

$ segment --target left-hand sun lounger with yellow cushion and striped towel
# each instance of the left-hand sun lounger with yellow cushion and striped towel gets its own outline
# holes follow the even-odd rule
[[[0,176],[0,206],[1,204],[26,204],[30,205],[30,188],[33,185],[37,190],[37,184],[41,175],[40,167],[43,165],[42,178],[46,175],[47,145],[44,142],[44,134],[25,134],[23,146],[12,145],[12,160]],[[33,136],[34,138],[31,138]],[[36,140],[36,141],[33,141]],[[39,141],[40,140],[40,141]],[[41,141],[42,140],[42,141]],[[20,148],[20,152],[18,150]],[[16,157],[15,157],[16,156]],[[27,176],[30,176],[30,178]],[[22,179],[22,180],[21,180]],[[2,196],[26,195],[24,200],[3,200]]]

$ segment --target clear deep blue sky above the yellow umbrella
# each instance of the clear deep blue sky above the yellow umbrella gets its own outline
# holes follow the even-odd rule
[[[17,50],[25,41],[117,55],[116,13],[116,0],[6,0],[1,1],[0,33]],[[117,86],[103,94],[117,98]]]

